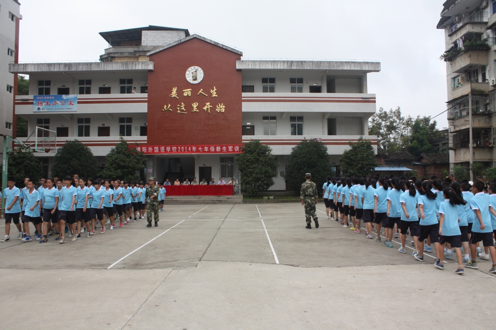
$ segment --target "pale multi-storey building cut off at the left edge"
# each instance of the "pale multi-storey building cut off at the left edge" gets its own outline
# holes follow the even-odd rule
[[[16,0],[0,0],[0,134],[12,135],[15,128],[13,116],[14,96],[17,94],[17,75],[8,70],[10,63],[17,63],[19,52],[19,12]],[[0,154],[3,139],[0,139]]]

